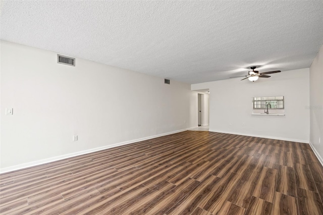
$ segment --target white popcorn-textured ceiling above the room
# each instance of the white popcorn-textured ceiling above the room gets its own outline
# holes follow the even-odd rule
[[[0,24],[3,40],[200,83],[309,67],[323,1],[1,1]]]

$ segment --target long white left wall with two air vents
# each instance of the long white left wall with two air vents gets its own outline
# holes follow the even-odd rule
[[[196,101],[189,84],[1,41],[1,171],[195,127]]]

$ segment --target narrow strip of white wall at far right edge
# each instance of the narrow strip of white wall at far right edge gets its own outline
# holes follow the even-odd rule
[[[309,68],[310,144],[323,165],[323,46]]]

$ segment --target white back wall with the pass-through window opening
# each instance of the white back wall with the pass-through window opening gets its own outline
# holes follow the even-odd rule
[[[192,90],[205,88],[210,90],[210,131],[308,143],[308,68],[255,82],[235,78],[191,85]],[[285,96],[285,116],[251,115],[252,97],[279,95]]]

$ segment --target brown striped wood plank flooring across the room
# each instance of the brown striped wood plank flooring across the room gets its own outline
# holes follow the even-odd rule
[[[1,214],[323,214],[308,144],[185,131],[0,175]]]

